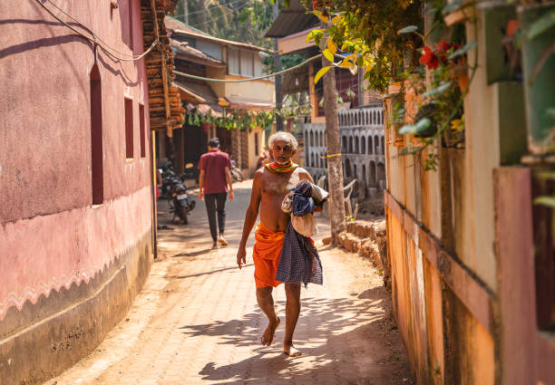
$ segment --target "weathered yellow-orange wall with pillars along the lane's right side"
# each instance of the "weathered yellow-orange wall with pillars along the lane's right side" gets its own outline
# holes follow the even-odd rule
[[[501,31],[516,22],[514,6],[474,11],[450,14],[479,46],[467,53],[476,72],[462,145],[435,140],[417,157],[405,149],[418,141],[386,130],[394,314],[419,384],[547,385],[555,383],[555,226],[554,210],[536,199],[553,196],[545,176],[555,164],[531,155],[529,84],[503,60]],[[392,88],[385,120],[399,101]],[[413,109],[406,95],[404,103]],[[434,169],[426,168],[430,154]]]

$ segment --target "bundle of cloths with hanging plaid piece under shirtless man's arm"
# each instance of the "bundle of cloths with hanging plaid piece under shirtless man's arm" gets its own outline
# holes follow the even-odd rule
[[[287,284],[322,284],[322,264],[310,236],[317,233],[312,213],[321,206],[329,194],[315,184],[303,179],[291,188],[281,209],[291,213],[283,248],[277,265],[276,280]]]

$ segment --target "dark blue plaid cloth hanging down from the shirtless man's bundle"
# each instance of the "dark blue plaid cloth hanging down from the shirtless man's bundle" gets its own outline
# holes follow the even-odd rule
[[[287,225],[283,248],[277,265],[276,280],[286,284],[323,284],[322,264],[310,238]]]

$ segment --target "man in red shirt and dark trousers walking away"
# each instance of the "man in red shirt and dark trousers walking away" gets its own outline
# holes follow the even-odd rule
[[[226,222],[226,198],[233,200],[233,186],[229,168],[231,162],[229,155],[219,150],[218,138],[209,140],[209,151],[202,154],[199,162],[199,199],[206,203],[206,212],[209,217],[210,235],[214,241],[212,248],[219,245],[228,245],[223,236]],[[216,233],[216,212],[218,212],[219,237]]]

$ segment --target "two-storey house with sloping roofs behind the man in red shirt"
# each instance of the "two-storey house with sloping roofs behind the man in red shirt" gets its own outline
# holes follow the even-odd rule
[[[266,53],[261,47],[219,39],[171,16],[166,16],[166,26],[170,30],[177,72],[228,81],[248,80],[262,74],[262,58]],[[188,110],[203,115],[222,117],[233,111],[239,111],[239,114],[256,113],[275,106],[274,82],[271,80],[207,82],[178,74],[174,83],[180,89],[181,100]],[[203,128],[200,126],[185,120],[182,130],[174,132],[174,168],[178,172],[187,163],[196,167],[200,155],[207,150],[209,138],[218,137],[220,148],[236,161],[243,175],[254,175],[266,142],[262,128],[252,126],[228,130],[217,127],[215,123]],[[166,140],[163,133],[159,137],[160,159],[166,152],[162,148]]]

